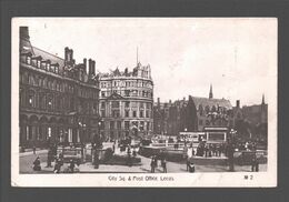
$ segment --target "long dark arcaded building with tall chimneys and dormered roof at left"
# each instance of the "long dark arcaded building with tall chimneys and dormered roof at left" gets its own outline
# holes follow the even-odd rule
[[[76,63],[73,50],[64,59],[30,42],[20,27],[20,147],[50,142],[90,142],[99,128],[99,81],[94,61]]]

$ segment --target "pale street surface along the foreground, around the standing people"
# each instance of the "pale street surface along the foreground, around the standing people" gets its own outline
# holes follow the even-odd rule
[[[33,171],[32,165],[36,158],[40,158],[42,171]],[[94,169],[91,162],[87,162],[79,165],[80,173],[149,173],[150,172],[150,159],[138,155],[141,159],[140,165],[127,166],[127,165],[110,165],[110,164],[100,164],[99,169]],[[47,162],[47,150],[37,151],[37,154],[32,152],[21,153],[20,156],[20,173],[52,173],[53,168],[46,168]],[[52,164],[53,165],[53,164]],[[64,164],[63,168],[67,165]],[[196,172],[228,172],[229,168],[227,165],[213,165],[213,164],[196,164]],[[260,172],[267,170],[267,164],[260,164]],[[177,162],[167,162],[168,173],[186,173],[187,166],[186,163]],[[250,172],[250,165],[235,165],[236,172]],[[162,172],[162,168],[159,165],[156,168],[156,173]]]

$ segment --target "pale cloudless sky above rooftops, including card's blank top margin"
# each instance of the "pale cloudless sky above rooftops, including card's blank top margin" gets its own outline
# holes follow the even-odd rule
[[[276,95],[275,18],[22,18],[32,46],[77,63],[96,60],[109,72],[150,64],[155,101],[188,95],[228,99],[232,105]]]

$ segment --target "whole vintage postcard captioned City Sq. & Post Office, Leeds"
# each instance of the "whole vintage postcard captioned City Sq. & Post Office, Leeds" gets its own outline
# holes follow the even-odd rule
[[[13,18],[11,185],[276,186],[276,18]]]

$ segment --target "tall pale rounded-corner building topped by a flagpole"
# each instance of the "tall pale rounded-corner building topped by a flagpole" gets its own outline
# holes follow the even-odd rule
[[[99,73],[101,133],[110,140],[152,133],[153,82],[150,65]]]

